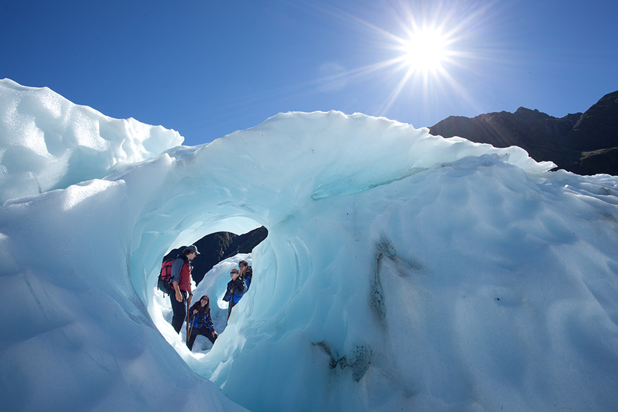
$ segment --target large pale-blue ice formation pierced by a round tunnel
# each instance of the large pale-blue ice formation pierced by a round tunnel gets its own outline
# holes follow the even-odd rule
[[[16,110],[41,124],[45,93],[24,93]],[[552,167],[384,118],[285,113],[5,201],[3,409],[615,411],[618,178]],[[154,288],[161,257],[260,225],[249,293],[189,352]],[[222,265],[200,285],[217,303]]]

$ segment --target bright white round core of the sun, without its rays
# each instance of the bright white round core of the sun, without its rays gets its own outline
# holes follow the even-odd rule
[[[448,56],[448,39],[440,30],[422,29],[410,34],[408,41],[402,45],[402,58],[412,71],[422,73],[442,69],[442,63]]]

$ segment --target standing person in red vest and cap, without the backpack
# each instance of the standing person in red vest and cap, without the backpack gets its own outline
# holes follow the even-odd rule
[[[183,328],[187,309],[191,304],[193,293],[191,291],[191,261],[200,253],[194,244],[185,247],[182,253],[172,263],[172,290],[170,301],[172,302],[172,327],[177,333]]]

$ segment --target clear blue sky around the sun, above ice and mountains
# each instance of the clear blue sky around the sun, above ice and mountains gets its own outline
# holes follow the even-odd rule
[[[608,0],[1,0],[0,78],[188,145],[286,111],[562,117],[618,90],[616,16]],[[448,42],[442,69],[402,59],[422,27]]]

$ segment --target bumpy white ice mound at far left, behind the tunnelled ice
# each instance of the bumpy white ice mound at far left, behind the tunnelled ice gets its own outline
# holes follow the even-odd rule
[[[102,178],[182,142],[175,130],[113,119],[47,87],[0,80],[0,203]]]

